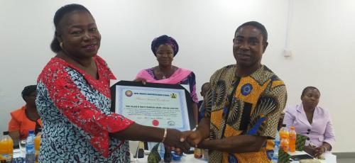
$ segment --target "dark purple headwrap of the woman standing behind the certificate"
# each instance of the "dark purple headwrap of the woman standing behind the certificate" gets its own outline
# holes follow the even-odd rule
[[[160,45],[165,45],[165,44],[170,45],[173,48],[174,57],[175,57],[175,55],[178,54],[179,52],[179,45],[174,38],[169,37],[168,35],[161,35],[158,38],[154,38],[151,45],[153,54],[156,56],[156,50],[158,50],[158,47]]]

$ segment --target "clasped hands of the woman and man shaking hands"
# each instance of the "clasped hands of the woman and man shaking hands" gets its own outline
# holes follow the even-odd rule
[[[182,154],[182,152],[190,150],[190,147],[200,147],[205,138],[207,137],[204,137],[198,130],[181,132],[175,129],[167,129],[163,143],[168,149],[175,151],[177,154]]]

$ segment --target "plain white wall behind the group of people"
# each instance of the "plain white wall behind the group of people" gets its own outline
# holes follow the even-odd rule
[[[53,16],[64,4],[86,6],[102,33],[99,54],[118,79],[131,80],[140,69],[157,64],[150,46],[153,38],[167,34],[180,45],[173,64],[192,69],[197,91],[220,67],[235,62],[232,39],[246,21],[260,21],[269,33],[263,56],[288,86],[288,105],[300,103],[305,86],[317,86],[320,106],[328,108],[334,123],[335,152],[355,152],[355,2],[351,0],[121,0],[121,1],[5,1],[0,0],[0,130],[7,130],[10,111],[19,108],[23,86],[35,84],[44,65],[53,57]],[[352,60],[351,60],[352,59]],[[351,130],[352,129],[352,130]]]

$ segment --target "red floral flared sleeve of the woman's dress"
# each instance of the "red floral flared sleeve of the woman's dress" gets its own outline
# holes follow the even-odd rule
[[[91,144],[102,154],[109,155],[109,133],[124,130],[133,121],[116,113],[105,114],[85,99],[64,66],[46,67],[40,75],[55,106],[78,128],[91,135]]]

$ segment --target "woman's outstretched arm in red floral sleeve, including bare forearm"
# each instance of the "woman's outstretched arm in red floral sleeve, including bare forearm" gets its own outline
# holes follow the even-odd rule
[[[38,96],[47,96],[44,91],[48,91],[50,100],[53,101],[63,115],[81,128],[85,133],[92,135],[91,144],[104,155],[108,153],[107,138],[109,134],[121,140],[148,140],[161,142],[165,135],[165,130],[135,124],[132,120],[124,118],[116,113],[104,112],[97,108],[94,103],[87,101],[80,88],[74,83],[72,76],[64,69],[52,71],[55,74],[45,75],[38,82]],[[80,82],[80,79],[75,79]],[[82,81],[82,84],[85,82]],[[38,98],[39,107],[40,99]],[[44,99],[45,100],[45,99]],[[164,142],[167,145],[187,148],[187,143],[180,142],[180,131],[168,129]]]

